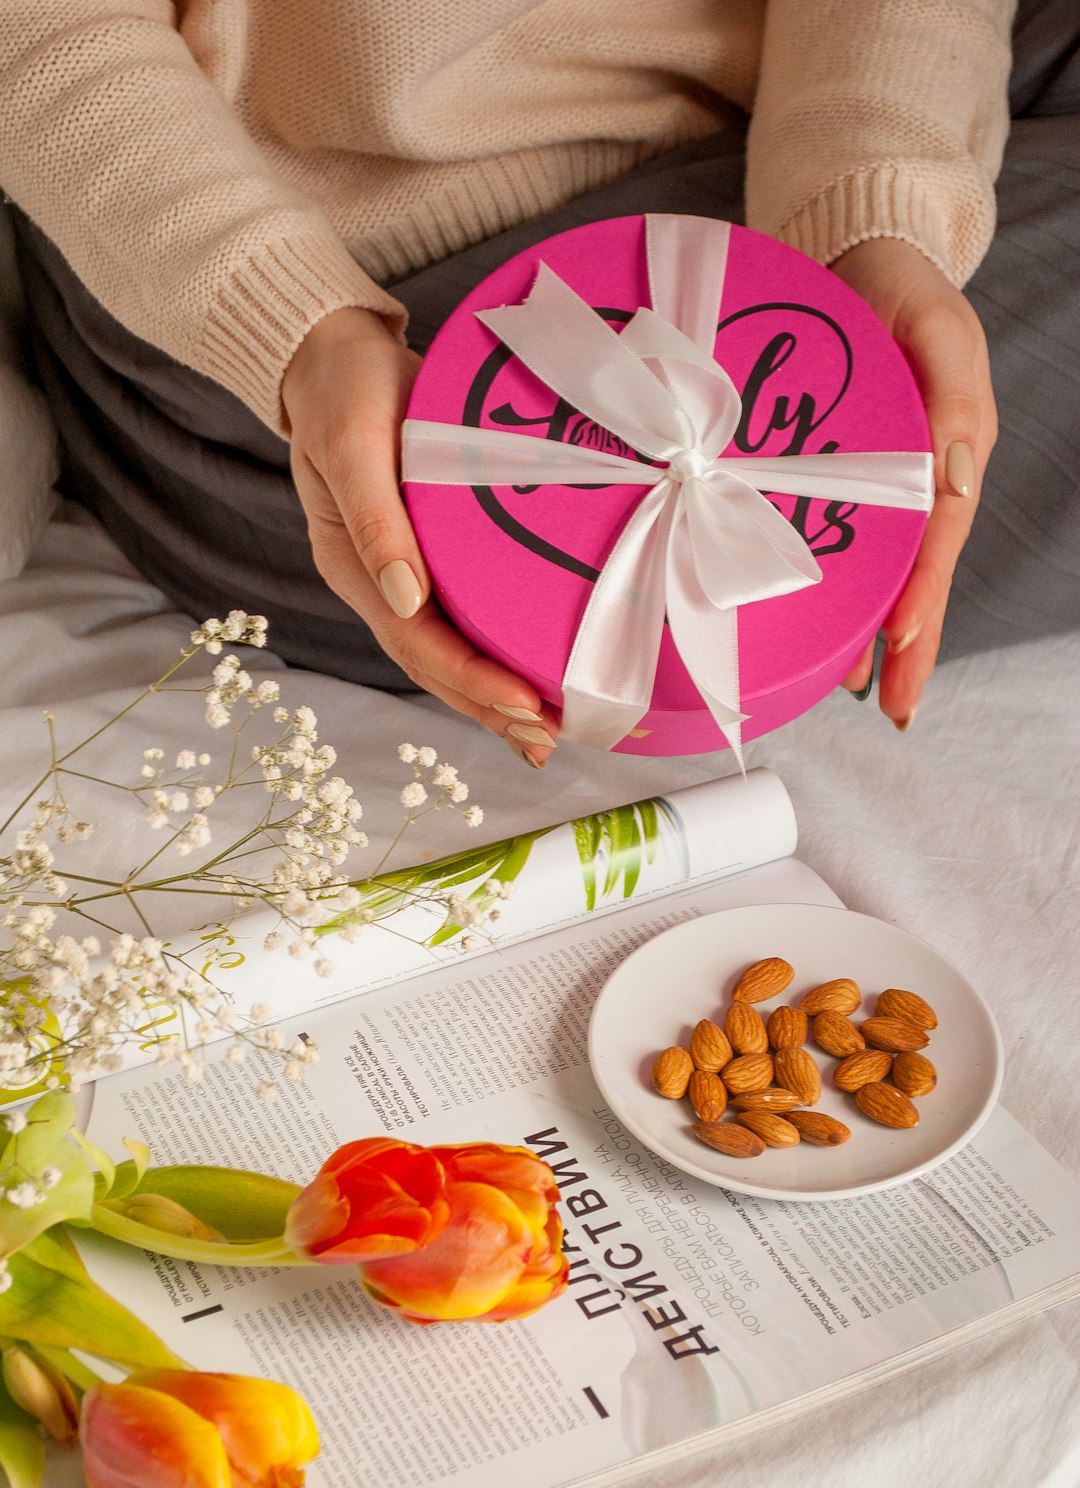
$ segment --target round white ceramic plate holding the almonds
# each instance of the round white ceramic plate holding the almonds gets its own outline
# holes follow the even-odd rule
[[[701,1143],[689,1101],[653,1091],[660,1049],[689,1045],[701,1018],[723,1024],[739,973],[780,955],[794,981],[759,1003],[766,1018],[781,1003],[836,976],[863,990],[855,1022],[873,1012],[876,994],[903,987],[925,997],[939,1027],[924,1054],[937,1067],[937,1089],[915,1104],[919,1125],[894,1131],[872,1122],[854,1097],[838,1091],[839,1062],[808,1043],[823,1071],[818,1110],[851,1128],[839,1147],[769,1147],[760,1158],[727,1158]],[[777,1199],[838,1199],[872,1193],[927,1173],[971,1140],[1001,1089],[1001,1037],[976,990],[924,940],[849,909],[757,905],[690,920],[628,957],[601,991],[589,1025],[589,1061],[614,1116],[647,1147],[707,1183]]]

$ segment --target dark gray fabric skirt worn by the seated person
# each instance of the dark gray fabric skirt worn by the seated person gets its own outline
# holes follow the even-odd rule
[[[967,293],[991,347],[1001,434],[957,571],[943,655],[1080,628],[1080,19],[1028,0],[1016,27],[998,232]],[[424,351],[449,311],[521,248],[629,213],[741,220],[741,128],[394,283]],[[266,615],[293,665],[409,689],[320,579],[289,448],[216,382],[125,330],[15,213],[34,354],[62,440],[64,494],[192,616]]]

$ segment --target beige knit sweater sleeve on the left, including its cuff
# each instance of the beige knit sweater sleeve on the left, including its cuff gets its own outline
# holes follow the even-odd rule
[[[167,0],[6,0],[3,186],[129,330],[283,432],[281,378],[344,305],[405,311],[263,158]]]

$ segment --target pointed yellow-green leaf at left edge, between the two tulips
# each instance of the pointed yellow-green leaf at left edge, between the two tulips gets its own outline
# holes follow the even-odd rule
[[[129,1369],[177,1369],[183,1362],[89,1277],[45,1266],[19,1251],[7,1260],[0,1333],[27,1344],[77,1348]]]

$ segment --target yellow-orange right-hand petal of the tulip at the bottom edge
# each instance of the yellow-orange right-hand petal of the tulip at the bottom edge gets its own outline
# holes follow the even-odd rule
[[[303,1481],[296,1470],[318,1452],[311,1411],[289,1385],[247,1375],[183,1369],[140,1370],[132,1381],[179,1400],[210,1421],[234,1473],[251,1488]]]

